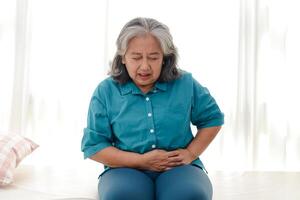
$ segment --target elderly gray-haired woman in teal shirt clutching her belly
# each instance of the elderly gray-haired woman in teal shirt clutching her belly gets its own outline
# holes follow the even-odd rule
[[[100,199],[212,199],[198,157],[223,121],[208,90],[177,68],[168,27],[150,18],[129,21],[110,77],[93,93],[82,138],[84,157],[105,166]]]

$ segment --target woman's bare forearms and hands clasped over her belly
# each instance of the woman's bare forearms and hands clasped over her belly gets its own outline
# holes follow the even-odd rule
[[[172,167],[190,164],[200,156],[220,131],[221,126],[199,129],[186,149],[164,151],[160,149],[145,154],[107,147],[90,158],[109,167],[130,167],[152,171],[165,171]]]

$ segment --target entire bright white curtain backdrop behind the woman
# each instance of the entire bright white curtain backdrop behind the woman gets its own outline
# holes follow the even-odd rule
[[[40,144],[34,163],[74,165],[88,103],[136,16],[167,24],[179,66],[225,125],[208,170],[299,170],[299,5],[292,0],[0,0],[0,132]]]

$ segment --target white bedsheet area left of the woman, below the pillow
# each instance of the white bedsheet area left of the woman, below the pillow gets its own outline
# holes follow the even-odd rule
[[[14,183],[0,187],[0,200],[96,200],[98,171],[20,165]]]

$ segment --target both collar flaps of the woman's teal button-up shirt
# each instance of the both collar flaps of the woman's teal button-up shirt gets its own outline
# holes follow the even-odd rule
[[[156,82],[154,88],[150,92],[156,92],[156,89],[164,92],[167,90],[167,86],[168,85],[165,82]],[[143,95],[143,92],[134,84],[133,81],[121,84],[120,91],[123,96],[129,93]]]

